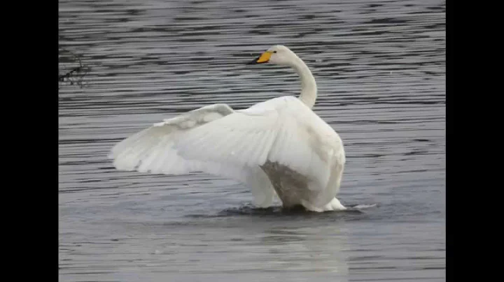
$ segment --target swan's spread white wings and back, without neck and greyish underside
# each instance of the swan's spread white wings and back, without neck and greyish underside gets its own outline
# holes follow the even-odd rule
[[[267,204],[274,191],[260,165],[286,165],[307,177],[310,189],[324,189],[335,165],[344,163],[340,142],[301,101],[280,97],[246,110],[216,104],[167,119],[118,143],[111,158],[120,170],[237,179]]]

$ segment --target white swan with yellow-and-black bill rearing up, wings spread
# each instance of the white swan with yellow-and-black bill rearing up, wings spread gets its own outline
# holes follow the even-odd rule
[[[245,110],[214,104],[165,119],[113,147],[118,170],[156,174],[208,172],[246,184],[253,202],[309,211],[346,209],[335,196],[345,163],[339,135],[311,111],[316,82],[304,62],[274,45],[251,64],[290,66],[301,78],[299,98],[283,96]],[[276,193],[275,193],[276,192]]]

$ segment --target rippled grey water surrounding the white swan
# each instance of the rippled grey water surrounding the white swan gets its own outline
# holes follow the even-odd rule
[[[59,45],[91,71],[59,89],[60,281],[444,281],[444,1],[60,0]],[[251,206],[202,173],[119,172],[116,142],[212,103],[297,95],[344,140],[338,198],[360,211]],[[63,54],[63,52],[61,53]],[[60,73],[76,66],[60,57]]]

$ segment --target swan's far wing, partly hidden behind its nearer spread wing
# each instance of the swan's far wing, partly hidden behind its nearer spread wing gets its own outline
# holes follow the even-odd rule
[[[180,155],[174,147],[175,142],[188,132],[233,112],[228,105],[215,104],[172,119],[165,119],[116,144],[109,158],[113,159],[113,165],[118,170],[137,170],[155,174],[208,172],[229,177],[243,182],[251,189],[255,205],[268,207],[272,204],[275,192],[267,175],[260,168],[197,158],[189,159]]]

